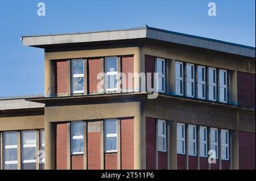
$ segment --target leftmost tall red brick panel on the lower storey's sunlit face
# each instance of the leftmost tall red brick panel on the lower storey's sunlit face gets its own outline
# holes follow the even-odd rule
[[[56,125],[56,169],[67,169],[67,123]]]

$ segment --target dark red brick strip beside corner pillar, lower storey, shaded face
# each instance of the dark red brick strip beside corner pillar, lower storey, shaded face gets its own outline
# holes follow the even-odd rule
[[[146,117],[146,169],[155,169],[155,119]]]

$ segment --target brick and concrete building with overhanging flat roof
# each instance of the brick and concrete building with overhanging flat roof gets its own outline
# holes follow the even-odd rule
[[[22,41],[45,94],[0,100],[1,169],[255,169],[254,47],[148,26]]]

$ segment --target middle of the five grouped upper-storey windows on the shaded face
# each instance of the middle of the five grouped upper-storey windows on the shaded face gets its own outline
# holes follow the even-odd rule
[[[197,98],[205,99],[205,66],[197,66]]]

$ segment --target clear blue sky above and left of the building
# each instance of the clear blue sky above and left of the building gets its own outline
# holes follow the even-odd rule
[[[38,16],[38,2],[46,16]],[[208,16],[215,2],[217,16]],[[0,2],[0,97],[43,94],[44,50],[20,36],[148,26],[255,47],[255,0]]]

